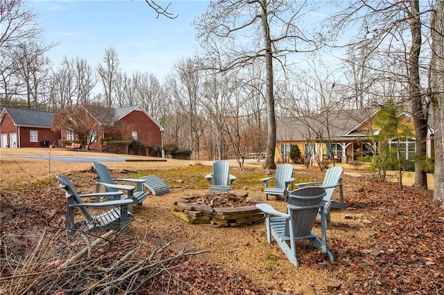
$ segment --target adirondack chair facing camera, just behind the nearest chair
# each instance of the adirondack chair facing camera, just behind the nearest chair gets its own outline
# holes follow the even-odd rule
[[[268,181],[275,179],[275,187],[272,188],[268,185]],[[265,200],[268,199],[268,195],[279,195],[283,196],[284,200],[287,202],[287,197],[289,194],[289,186],[293,185],[293,165],[291,164],[281,164],[276,168],[276,176],[265,177],[259,179],[265,185]]]

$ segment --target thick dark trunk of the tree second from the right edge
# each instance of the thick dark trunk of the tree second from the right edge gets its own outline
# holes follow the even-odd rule
[[[410,30],[411,48],[409,55],[409,96],[413,112],[416,136],[415,183],[414,186],[427,188],[427,173],[422,169],[427,156],[427,109],[423,105],[419,78],[419,58],[421,51],[421,20],[419,0],[411,0]]]

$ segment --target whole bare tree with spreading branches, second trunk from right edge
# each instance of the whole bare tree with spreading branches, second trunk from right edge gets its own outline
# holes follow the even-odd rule
[[[330,19],[336,29],[343,30],[345,24],[361,24],[366,34],[358,40],[362,48],[384,48],[392,63],[401,69],[398,82],[407,84],[407,96],[413,116],[416,136],[415,183],[427,187],[424,161],[427,150],[427,119],[429,100],[421,81],[427,71],[429,57],[424,54],[427,42],[422,42],[423,24],[427,24],[428,6],[420,7],[419,0],[385,0],[374,2],[353,1],[348,8]],[[425,27],[427,28],[428,25]],[[410,44],[409,44],[410,42]],[[384,74],[384,71],[379,71]]]

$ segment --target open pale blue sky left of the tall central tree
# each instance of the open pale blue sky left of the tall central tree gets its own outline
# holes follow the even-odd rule
[[[205,12],[209,1],[157,1],[171,3],[176,19],[160,16],[144,0],[28,0],[40,16],[46,42],[60,42],[48,57],[54,64],[82,58],[93,68],[103,60],[106,48],[114,48],[120,68],[153,73],[159,80],[173,64],[199,52],[191,22]]]

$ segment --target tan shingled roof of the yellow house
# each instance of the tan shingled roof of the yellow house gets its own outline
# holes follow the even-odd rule
[[[278,141],[366,136],[358,129],[375,116],[377,109],[343,109],[314,116],[287,117],[276,121]],[[368,127],[370,131],[370,126]],[[365,129],[365,128],[364,128]]]

